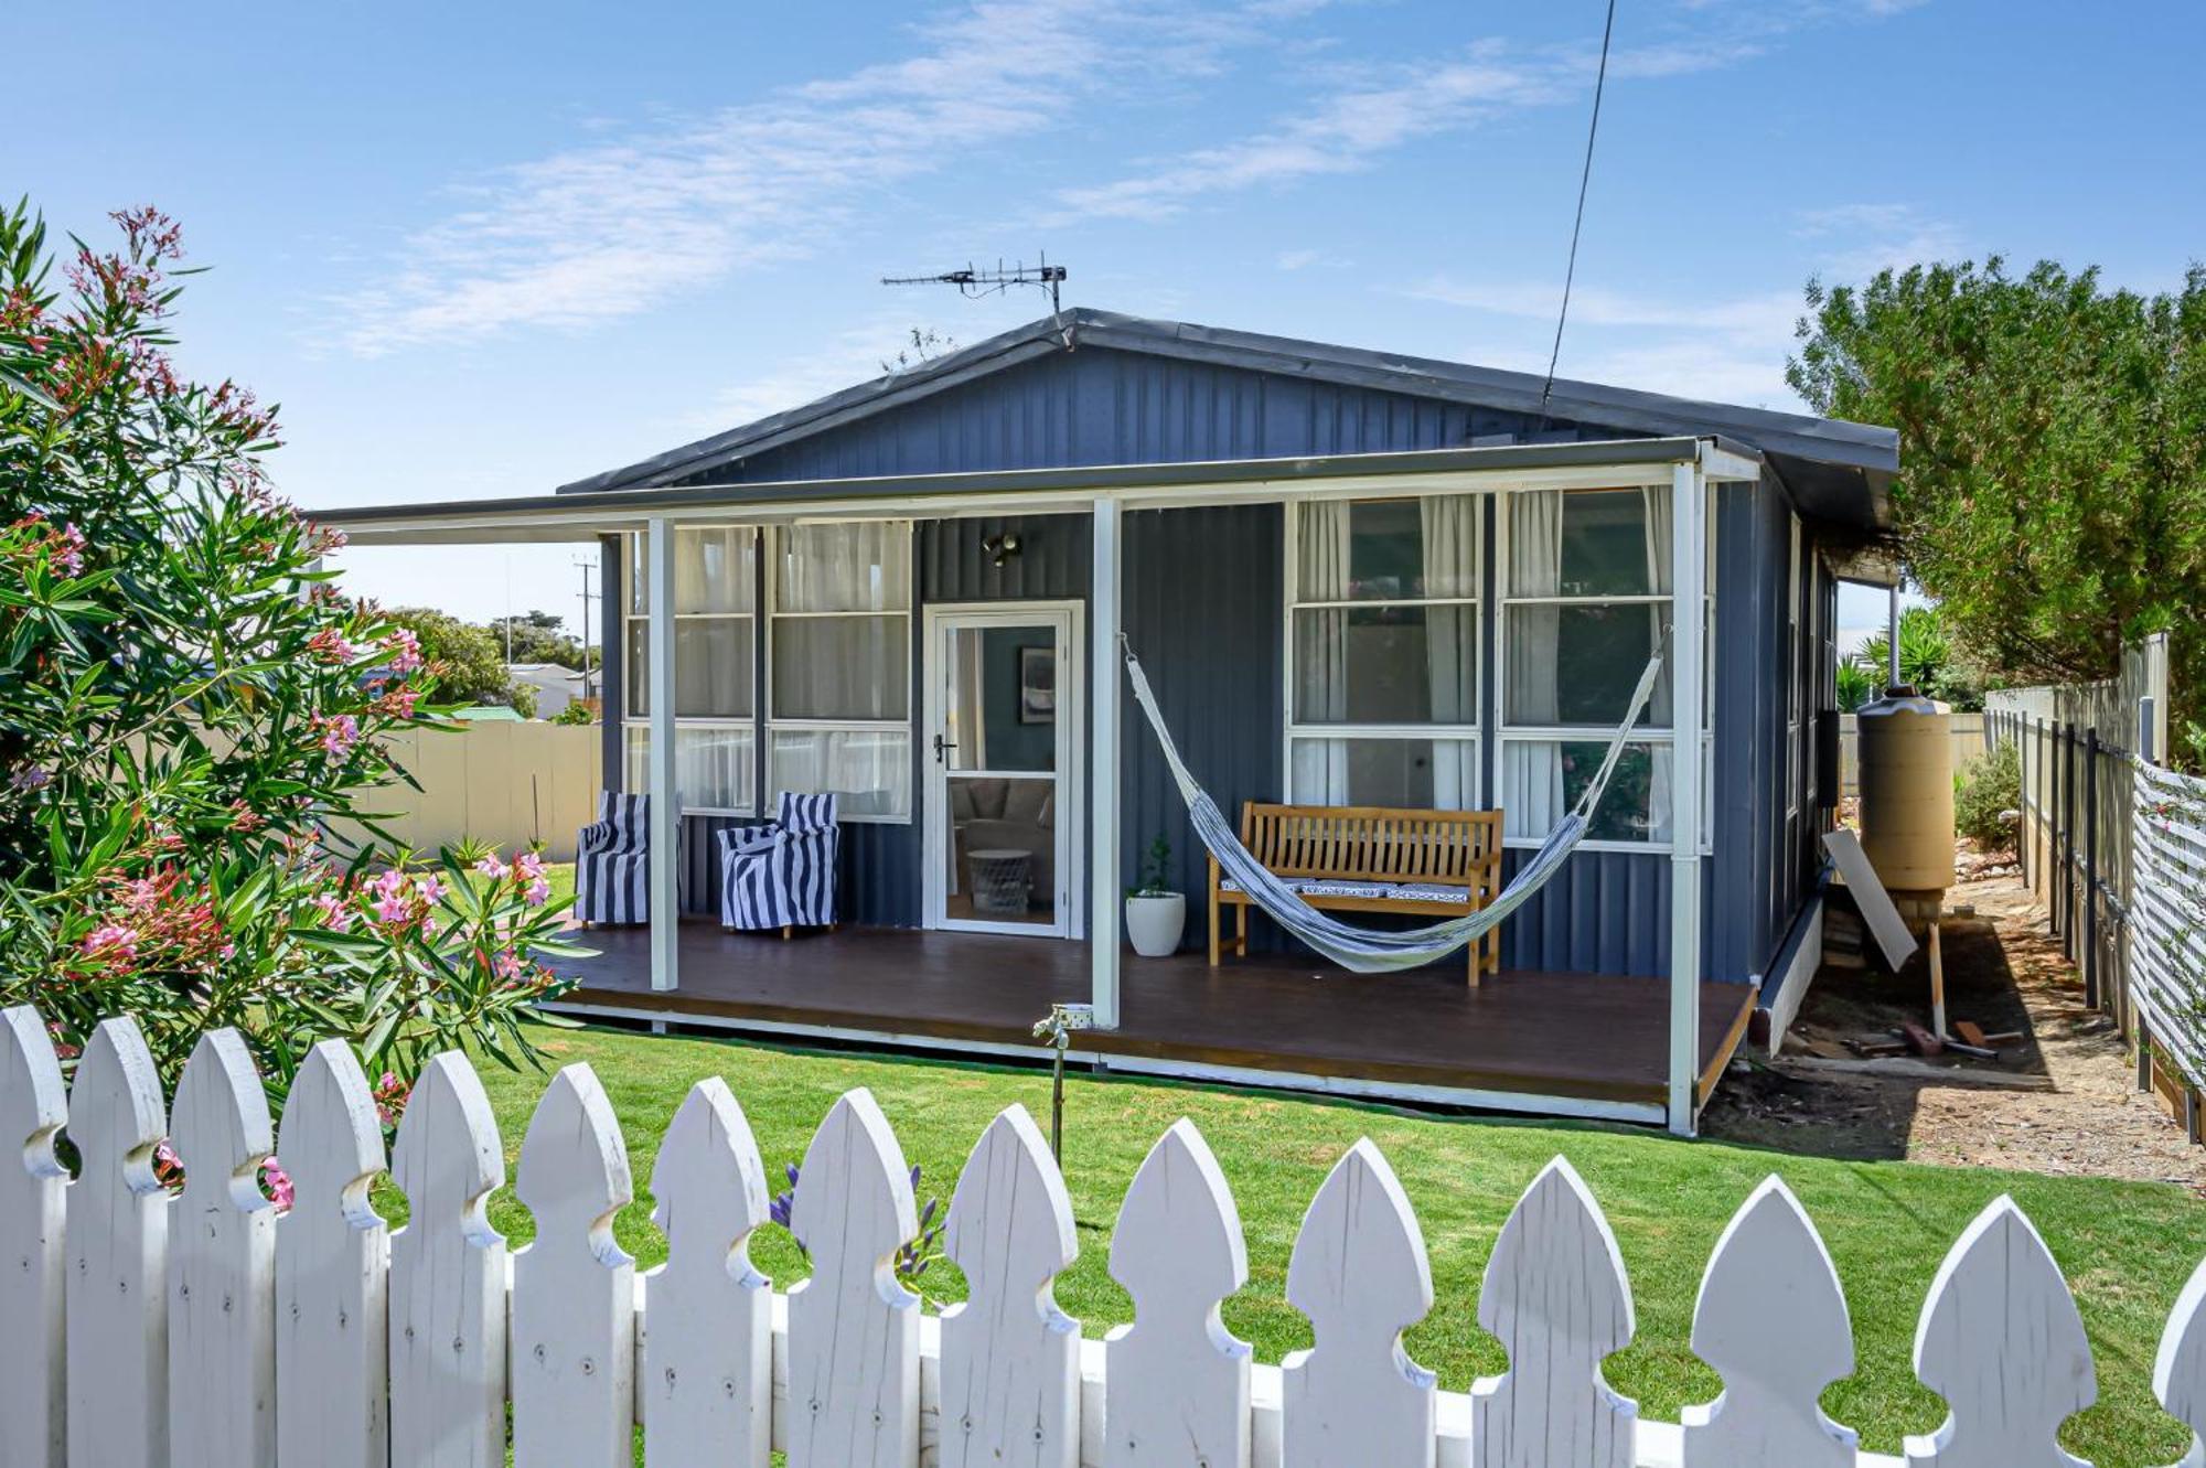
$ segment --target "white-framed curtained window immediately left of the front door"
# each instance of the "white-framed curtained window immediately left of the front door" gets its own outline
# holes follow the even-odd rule
[[[843,820],[911,820],[911,520],[770,538],[765,763]]]

